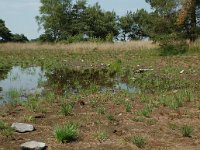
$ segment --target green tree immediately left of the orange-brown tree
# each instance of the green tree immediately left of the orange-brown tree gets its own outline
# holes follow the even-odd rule
[[[140,19],[148,35],[155,41],[162,41],[166,38],[179,37],[180,29],[177,26],[177,8],[179,0],[146,0],[153,9],[147,13],[144,10],[139,12],[146,20]]]

